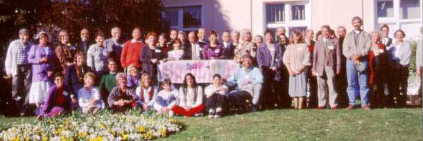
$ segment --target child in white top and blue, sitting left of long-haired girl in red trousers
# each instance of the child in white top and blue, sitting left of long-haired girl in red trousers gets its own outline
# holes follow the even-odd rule
[[[178,91],[171,88],[171,86],[171,80],[164,79],[162,82],[162,91],[157,93],[155,102],[153,104],[153,107],[157,113],[173,116],[173,111],[171,109],[176,104],[176,96],[178,95]]]

